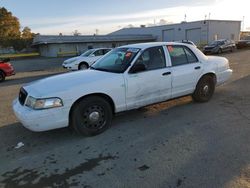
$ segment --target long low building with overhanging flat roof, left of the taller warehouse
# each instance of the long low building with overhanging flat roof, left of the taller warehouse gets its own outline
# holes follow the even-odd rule
[[[79,55],[92,48],[114,48],[121,45],[153,42],[152,35],[92,35],[92,36],[64,36],[64,35],[37,35],[33,40],[41,56],[58,57]]]

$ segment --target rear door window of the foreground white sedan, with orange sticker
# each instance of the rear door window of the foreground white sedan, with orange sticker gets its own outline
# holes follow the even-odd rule
[[[167,46],[172,66],[188,64],[187,56],[182,46]]]

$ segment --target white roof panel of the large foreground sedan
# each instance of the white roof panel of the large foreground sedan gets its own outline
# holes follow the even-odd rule
[[[138,43],[138,44],[129,44],[125,46],[120,46],[119,48],[140,48],[145,49],[155,46],[166,46],[166,45],[183,45],[190,46],[191,44],[182,43],[182,42],[148,42],[148,43]]]

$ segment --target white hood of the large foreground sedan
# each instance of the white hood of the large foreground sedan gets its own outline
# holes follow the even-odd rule
[[[67,90],[72,92],[74,88],[94,87],[95,83],[113,80],[117,76],[117,73],[89,69],[47,77],[25,85],[24,89],[33,97],[54,97],[53,95],[65,93]]]

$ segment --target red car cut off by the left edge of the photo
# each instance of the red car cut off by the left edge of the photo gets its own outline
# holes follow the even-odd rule
[[[9,61],[9,58],[0,60],[0,82],[3,82],[7,76],[15,74],[15,70]]]

